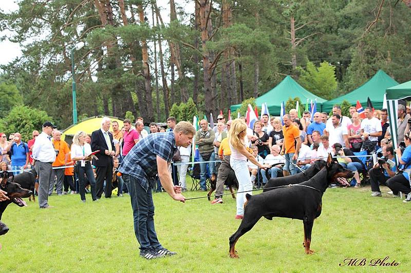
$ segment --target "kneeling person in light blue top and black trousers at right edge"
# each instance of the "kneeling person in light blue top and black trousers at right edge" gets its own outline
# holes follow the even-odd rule
[[[402,192],[407,195],[403,202],[411,201],[411,187],[409,186],[409,172],[411,171],[411,140],[410,133],[404,135],[405,150],[401,152],[401,149],[398,148],[395,152],[398,155],[399,163],[403,165],[402,173],[396,174],[394,177],[391,177],[387,180],[387,186],[393,191],[394,195],[398,195],[399,192]]]

